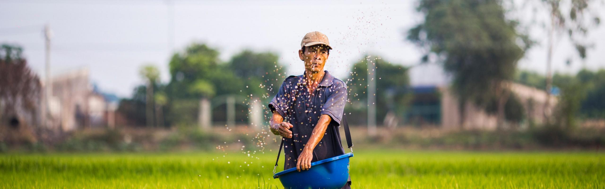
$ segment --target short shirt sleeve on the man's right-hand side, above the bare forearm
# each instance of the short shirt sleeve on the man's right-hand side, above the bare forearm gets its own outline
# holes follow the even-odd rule
[[[332,93],[326,99],[320,114],[329,115],[332,117],[332,121],[340,126],[344,105],[347,104],[347,85],[341,81],[340,84],[332,85],[329,90],[332,90]]]

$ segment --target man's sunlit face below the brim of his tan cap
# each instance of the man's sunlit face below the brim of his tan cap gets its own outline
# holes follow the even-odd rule
[[[327,47],[320,44],[304,48],[304,53],[302,50],[298,50],[298,56],[304,61],[305,70],[312,73],[323,71],[325,61],[328,60],[329,56]]]

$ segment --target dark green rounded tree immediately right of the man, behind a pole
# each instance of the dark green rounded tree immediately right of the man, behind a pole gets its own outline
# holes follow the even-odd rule
[[[404,114],[405,107],[409,104],[412,94],[409,93],[410,77],[408,76],[408,68],[402,65],[391,64],[377,56],[367,56],[356,62],[350,68],[351,72],[347,78],[348,99],[351,102],[367,101],[368,87],[368,69],[367,64],[376,66],[376,117],[378,120],[384,118],[388,112],[393,112],[396,117],[401,119]],[[345,107],[346,112],[365,111],[365,105],[355,105]],[[356,110],[357,109],[357,110]],[[361,113],[359,113],[361,114]],[[360,122],[353,119],[354,122]]]

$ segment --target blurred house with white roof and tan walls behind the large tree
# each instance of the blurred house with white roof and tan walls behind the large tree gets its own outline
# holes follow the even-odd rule
[[[439,65],[417,65],[409,71],[414,98],[405,113],[405,124],[434,125],[446,129],[496,128],[496,116],[486,113],[483,108],[472,102],[466,103],[465,119],[463,123],[460,122],[458,99],[450,90],[450,78]],[[549,106],[545,108],[548,99],[546,91],[516,83],[510,83],[508,86],[525,108],[526,119],[531,119],[537,124],[543,122],[545,111],[552,111],[557,104],[557,98],[551,96]]]

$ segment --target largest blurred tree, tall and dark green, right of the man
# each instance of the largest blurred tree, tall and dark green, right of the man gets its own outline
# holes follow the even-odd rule
[[[497,0],[420,0],[417,10],[424,23],[408,31],[407,39],[437,55],[452,73],[453,89],[459,98],[460,125],[464,104],[471,101],[485,107],[497,99],[497,120],[502,125],[505,103],[510,96],[506,84],[513,78],[517,61],[531,41],[515,30]]]

